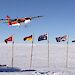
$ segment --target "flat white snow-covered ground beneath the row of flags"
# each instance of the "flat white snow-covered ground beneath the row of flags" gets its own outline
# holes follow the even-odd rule
[[[66,68],[66,44],[49,44],[49,67],[48,45],[34,44],[32,65],[31,44],[14,44],[14,67],[21,69],[36,69],[38,72],[48,72],[48,75],[74,75],[75,74],[75,45],[68,45],[68,64]],[[12,44],[0,44],[0,64],[11,66]],[[54,72],[54,73],[52,73]],[[51,74],[52,73],[52,74]],[[34,72],[0,73],[0,75],[32,75]],[[35,74],[36,75],[36,74]],[[47,75],[47,74],[41,74]]]

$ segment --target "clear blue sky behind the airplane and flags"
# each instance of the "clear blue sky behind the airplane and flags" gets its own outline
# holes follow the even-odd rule
[[[50,43],[56,43],[57,36],[69,35],[69,42],[75,40],[75,0],[0,0],[0,18],[43,16],[32,20],[27,27],[9,27],[0,23],[0,42],[14,34],[15,43],[23,41],[25,36],[34,34],[34,43],[38,37],[49,34]],[[41,43],[46,43],[42,41]]]

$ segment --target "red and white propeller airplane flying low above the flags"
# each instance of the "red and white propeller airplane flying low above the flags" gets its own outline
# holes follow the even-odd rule
[[[0,22],[8,23],[9,26],[21,26],[23,24],[29,23],[32,19],[40,18],[40,17],[43,16],[15,18],[15,19],[11,19],[10,16],[6,16],[6,19],[0,19]]]

